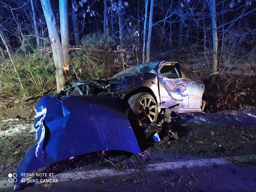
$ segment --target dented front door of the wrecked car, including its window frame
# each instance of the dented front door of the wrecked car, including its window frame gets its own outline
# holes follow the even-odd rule
[[[180,104],[179,108],[188,109],[187,80],[182,78],[179,64],[162,63],[157,73],[161,102],[159,108],[170,108]]]

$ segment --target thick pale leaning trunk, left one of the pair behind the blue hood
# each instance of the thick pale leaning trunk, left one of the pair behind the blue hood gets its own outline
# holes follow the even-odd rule
[[[48,33],[52,45],[52,55],[55,65],[55,77],[57,83],[57,92],[64,89],[64,84],[67,82],[68,77],[64,73],[64,58],[60,44],[60,37],[58,33],[58,25],[52,11],[51,0],[41,0],[44,17],[46,20]]]

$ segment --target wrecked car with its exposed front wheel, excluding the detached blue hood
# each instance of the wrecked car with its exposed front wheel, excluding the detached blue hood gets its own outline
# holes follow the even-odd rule
[[[61,95],[106,95],[128,102],[138,124],[157,121],[158,114],[200,112],[204,83],[178,62],[155,61],[127,68],[103,80],[72,81]]]

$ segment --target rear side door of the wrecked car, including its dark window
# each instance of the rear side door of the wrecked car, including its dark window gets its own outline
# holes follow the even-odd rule
[[[189,111],[201,111],[204,84],[189,68],[185,66],[180,68],[181,73],[188,82],[188,109]]]

